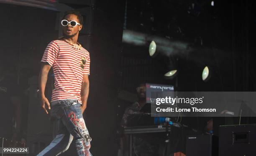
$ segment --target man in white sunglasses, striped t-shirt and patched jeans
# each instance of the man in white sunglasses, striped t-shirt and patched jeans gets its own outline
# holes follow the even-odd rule
[[[82,15],[76,11],[64,14],[61,20],[64,37],[51,41],[44,51],[39,74],[41,107],[58,120],[56,138],[38,156],[56,156],[75,141],[79,156],[92,156],[89,132],[83,112],[89,94],[90,54],[78,42],[82,29]],[[81,24],[80,24],[81,23]],[[54,90],[51,105],[44,91],[49,70],[54,72]]]

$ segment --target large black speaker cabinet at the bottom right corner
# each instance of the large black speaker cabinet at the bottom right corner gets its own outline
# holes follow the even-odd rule
[[[219,156],[256,156],[256,124],[219,128]]]

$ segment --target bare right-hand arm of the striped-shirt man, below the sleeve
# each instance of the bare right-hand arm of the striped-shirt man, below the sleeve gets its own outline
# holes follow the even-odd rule
[[[87,99],[89,95],[89,75],[84,74],[83,81],[82,81],[82,87],[81,87],[81,100],[82,100],[82,114],[84,113],[84,110],[87,106]]]

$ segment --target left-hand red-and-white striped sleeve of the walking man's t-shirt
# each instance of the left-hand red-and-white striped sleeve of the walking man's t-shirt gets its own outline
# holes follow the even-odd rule
[[[44,55],[41,59],[41,62],[48,62],[49,65],[53,65],[56,61],[56,58],[59,54],[59,47],[54,41],[51,41],[44,51]]]

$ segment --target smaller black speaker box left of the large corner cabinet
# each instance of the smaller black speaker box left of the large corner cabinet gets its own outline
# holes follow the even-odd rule
[[[186,156],[218,156],[218,137],[213,135],[187,136]]]

